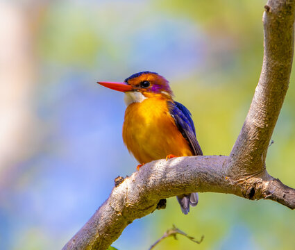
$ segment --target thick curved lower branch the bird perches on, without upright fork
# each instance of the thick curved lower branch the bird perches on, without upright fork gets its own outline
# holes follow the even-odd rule
[[[228,177],[228,156],[156,160],[113,188],[110,197],[64,249],[107,249],[124,228],[152,213],[160,199],[190,192],[221,192],[247,199],[271,199],[295,208],[295,190],[267,172],[239,180]],[[284,195],[285,194],[285,195]]]

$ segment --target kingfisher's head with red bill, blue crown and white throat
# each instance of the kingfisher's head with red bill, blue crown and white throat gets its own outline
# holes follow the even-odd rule
[[[171,99],[173,92],[169,82],[154,72],[139,72],[129,76],[124,83],[98,82],[112,90],[125,92],[125,102],[141,102],[150,97],[165,97]]]

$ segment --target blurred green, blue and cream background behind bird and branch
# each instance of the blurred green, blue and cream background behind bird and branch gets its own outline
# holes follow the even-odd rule
[[[71,0],[0,3],[0,249],[61,249],[137,163],[121,139],[123,94],[96,81],[145,70],[191,110],[205,155],[228,155],[258,83],[261,0]],[[267,169],[295,187],[292,74]],[[273,201],[175,198],[112,245],[148,249],[295,249],[295,213]]]

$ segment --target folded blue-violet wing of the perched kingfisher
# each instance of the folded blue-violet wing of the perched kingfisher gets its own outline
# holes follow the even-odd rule
[[[167,101],[168,109],[171,117],[178,127],[178,130],[183,135],[185,140],[189,143],[195,156],[203,156],[203,152],[196,140],[196,131],[194,129],[194,122],[192,121],[192,114],[183,104],[177,101]]]

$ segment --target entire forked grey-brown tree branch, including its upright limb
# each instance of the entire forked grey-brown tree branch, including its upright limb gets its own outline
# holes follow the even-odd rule
[[[295,208],[295,190],[267,173],[265,158],[289,85],[295,0],[264,6],[264,58],[258,86],[230,156],[157,160],[113,188],[110,197],[63,249],[107,249],[134,219],[160,199],[189,192],[221,192],[271,199]]]

